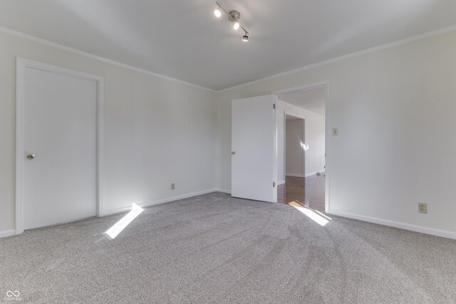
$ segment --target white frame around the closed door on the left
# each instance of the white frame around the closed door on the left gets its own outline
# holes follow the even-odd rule
[[[96,168],[95,168],[95,201],[96,215],[103,215],[103,105],[104,78],[98,75],[83,73],[78,70],[61,68],[56,65],[16,57],[16,234],[24,232],[23,217],[23,178],[24,178],[24,75],[26,68],[35,68],[46,72],[95,81],[96,91]]]

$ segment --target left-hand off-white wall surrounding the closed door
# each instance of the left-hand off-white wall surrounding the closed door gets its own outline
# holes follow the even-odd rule
[[[16,56],[105,78],[106,211],[216,187],[215,93],[3,32],[0,46],[0,236],[15,227]]]

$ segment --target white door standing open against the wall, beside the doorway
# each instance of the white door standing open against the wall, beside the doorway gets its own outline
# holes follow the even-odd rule
[[[276,98],[232,101],[232,196],[277,201]]]

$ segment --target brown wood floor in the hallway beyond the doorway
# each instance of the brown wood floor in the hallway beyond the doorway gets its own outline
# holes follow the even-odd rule
[[[285,184],[277,188],[277,202],[288,204],[297,201],[321,212],[325,211],[325,176],[286,177]],[[307,205],[309,204],[309,205]]]

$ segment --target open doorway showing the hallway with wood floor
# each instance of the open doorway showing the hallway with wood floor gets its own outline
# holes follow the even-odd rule
[[[328,211],[326,84],[292,88],[276,95],[277,201]]]

